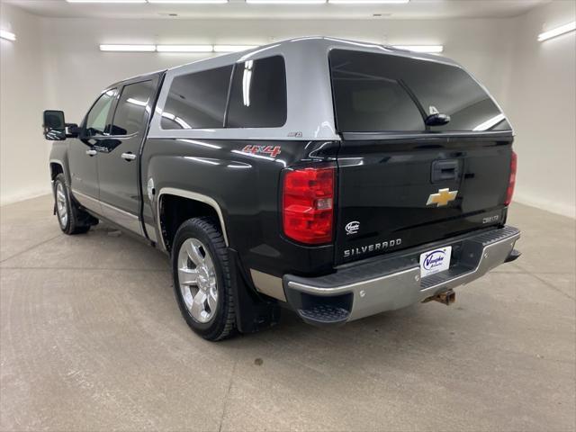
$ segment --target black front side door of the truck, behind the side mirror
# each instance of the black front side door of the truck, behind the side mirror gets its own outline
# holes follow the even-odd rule
[[[76,201],[101,214],[98,187],[98,143],[110,129],[116,88],[105,90],[92,105],[80,127],[78,138],[69,139],[68,166],[70,187]]]

